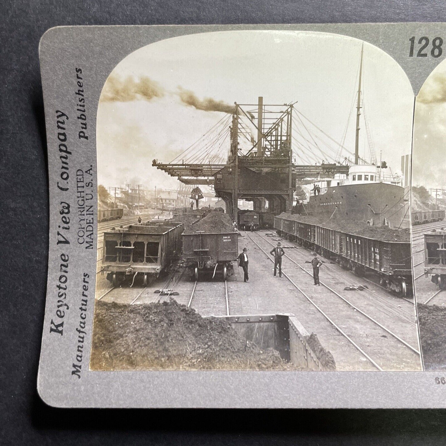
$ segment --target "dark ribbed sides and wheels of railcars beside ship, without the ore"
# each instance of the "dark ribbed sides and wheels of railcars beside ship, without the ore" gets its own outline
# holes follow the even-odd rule
[[[400,296],[412,293],[409,242],[388,242],[276,217],[277,234],[313,249],[358,276],[372,272]]]

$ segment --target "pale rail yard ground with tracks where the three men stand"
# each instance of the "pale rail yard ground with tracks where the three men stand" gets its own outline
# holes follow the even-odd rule
[[[278,240],[286,254],[282,260],[286,277],[282,278],[273,277],[273,262],[269,256]],[[233,262],[234,274],[226,282],[221,277],[195,282],[188,270],[178,268],[148,287],[136,284],[132,288],[112,289],[106,276],[99,273],[96,311],[105,308],[101,305],[111,304],[118,305],[113,311],[119,305],[141,307],[141,310],[132,311],[146,311],[142,309],[149,306],[144,304],[161,300],[157,290],[168,288],[175,292],[173,299],[178,304],[189,304],[202,317],[293,314],[308,333],[317,337],[321,355],[332,355],[336,370],[421,370],[413,299],[396,297],[380,287],[372,276],[356,277],[326,259],[320,269],[321,286],[315,287],[310,275],[311,265],[306,263],[311,260],[311,252],[281,239],[272,231],[241,231],[239,251],[244,247],[248,248],[249,283],[244,283],[243,270],[237,268],[236,262]],[[345,290],[350,285],[366,285],[367,288],[359,291],[353,286]],[[133,328],[141,335],[141,325],[133,325],[128,325],[126,330]],[[97,327],[95,320],[95,339]],[[92,365],[106,367],[94,356],[95,350],[99,355],[104,354],[100,343],[95,347],[99,348],[92,351]],[[128,367],[131,368],[130,353],[128,351]],[[187,364],[190,365],[184,365]],[[234,359],[234,364],[235,368],[248,368],[240,359]],[[175,367],[179,369],[180,364]]]

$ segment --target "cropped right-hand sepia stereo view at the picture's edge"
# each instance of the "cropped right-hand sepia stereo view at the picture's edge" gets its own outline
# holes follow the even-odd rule
[[[412,168],[412,252],[425,370],[446,366],[446,64],[425,80],[416,98]]]

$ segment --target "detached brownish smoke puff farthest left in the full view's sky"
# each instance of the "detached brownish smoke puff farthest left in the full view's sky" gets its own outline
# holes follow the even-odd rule
[[[137,80],[132,76],[122,79],[111,75],[105,83],[101,94],[104,102],[130,102],[134,100],[151,101],[153,98],[161,98],[165,90],[159,83],[147,76],[141,76]]]

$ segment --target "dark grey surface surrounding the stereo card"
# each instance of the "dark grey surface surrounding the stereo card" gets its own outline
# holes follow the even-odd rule
[[[73,410],[50,408],[36,392],[48,256],[37,54],[45,30],[57,25],[446,21],[444,1],[6,0],[0,17],[1,444],[446,443],[443,410]]]

